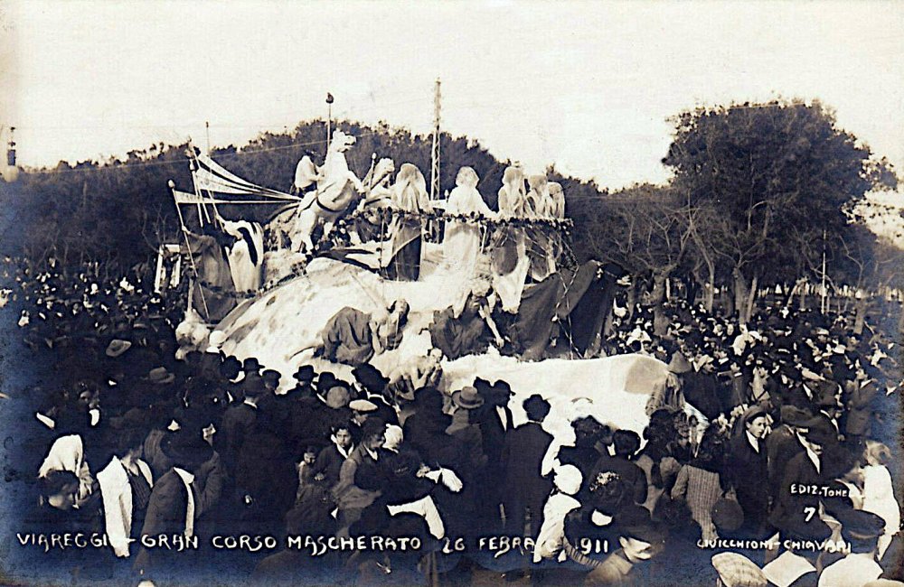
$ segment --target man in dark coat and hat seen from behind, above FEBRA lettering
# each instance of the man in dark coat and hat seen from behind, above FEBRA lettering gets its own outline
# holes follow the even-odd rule
[[[550,404],[534,394],[524,400],[528,422],[505,437],[504,467],[505,528],[511,536],[523,536],[525,509],[531,512],[530,536],[540,530],[543,503],[552,490],[551,480],[542,476],[542,462],[552,443],[552,434],[542,428]]]

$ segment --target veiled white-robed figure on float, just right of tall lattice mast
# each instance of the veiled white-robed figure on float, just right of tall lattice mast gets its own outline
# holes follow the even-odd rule
[[[483,219],[494,217],[493,210],[486,205],[477,182],[480,179],[470,167],[462,167],[456,176],[456,187],[449,193],[446,204],[447,214],[468,216],[476,214]],[[481,226],[476,221],[449,220],[443,237],[443,263],[450,274],[462,280],[470,279],[476,273],[482,245]]]

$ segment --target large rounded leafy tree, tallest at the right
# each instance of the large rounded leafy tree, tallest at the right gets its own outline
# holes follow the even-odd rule
[[[663,163],[688,204],[712,212],[697,236],[729,271],[741,321],[758,286],[819,266],[822,247],[813,244],[843,233],[843,205],[877,181],[869,148],[818,101],[684,111]]]

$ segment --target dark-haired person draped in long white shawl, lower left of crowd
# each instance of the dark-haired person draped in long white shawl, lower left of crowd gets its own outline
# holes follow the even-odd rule
[[[154,480],[151,468],[138,458],[142,450],[144,434],[137,426],[130,426],[117,433],[120,439],[121,456],[114,455],[107,466],[98,473],[100,496],[104,503],[104,522],[109,545],[120,558],[129,555],[132,542],[133,520],[137,508],[147,508]],[[139,478],[140,476],[140,478]],[[130,477],[138,478],[136,481]],[[135,495],[132,483],[137,482],[144,489]],[[143,512],[142,512],[143,513]],[[137,527],[140,529],[140,522]]]

